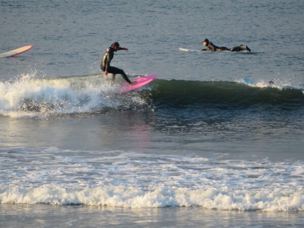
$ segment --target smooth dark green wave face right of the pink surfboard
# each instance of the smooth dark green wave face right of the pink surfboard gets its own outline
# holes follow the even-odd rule
[[[153,84],[151,96],[156,105],[237,108],[265,104],[283,109],[304,108],[304,94],[294,88],[258,88],[234,82],[182,80],[156,80]]]

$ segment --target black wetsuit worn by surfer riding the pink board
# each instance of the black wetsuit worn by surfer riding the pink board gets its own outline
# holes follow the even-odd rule
[[[118,50],[124,50],[123,48],[119,47]],[[127,74],[122,70],[114,66],[110,66],[110,62],[112,58],[114,57],[114,49],[109,47],[109,51],[105,52],[102,59],[101,59],[101,64],[100,64],[100,69],[104,72],[107,71],[108,73],[113,74],[113,77],[111,78],[112,81],[115,80],[115,74],[121,74],[124,80],[126,80],[128,83],[131,84],[131,81],[129,80]]]

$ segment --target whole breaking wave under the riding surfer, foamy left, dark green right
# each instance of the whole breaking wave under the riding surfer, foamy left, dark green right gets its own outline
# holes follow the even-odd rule
[[[304,109],[303,88],[257,85],[156,79],[139,90],[122,94],[119,83],[110,86],[98,74],[51,79],[32,79],[24,75],[15,82],[0,82],[0,115],[52,118],[109,110],[195,105],[234,109],[269,105],[289,110]]]

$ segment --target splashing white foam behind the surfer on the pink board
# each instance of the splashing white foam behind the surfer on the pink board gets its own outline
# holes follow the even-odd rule
[[[137,96],[118,97],[119,86],[109,86],[100,75],[56,79],[34,79],[25,74],[13,82],[0,82],[0,115],[45,118],[70,113],[88,113],[118,108],[127,102],[141,105]]]

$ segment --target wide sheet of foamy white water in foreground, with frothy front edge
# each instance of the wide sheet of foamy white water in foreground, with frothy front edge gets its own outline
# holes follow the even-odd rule
[[[13,151],[0,160],[1,203],[304,210],[302,162],[57,148]]]

